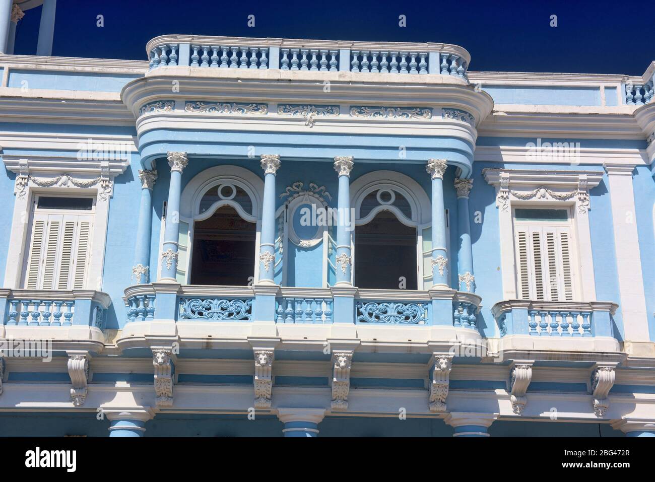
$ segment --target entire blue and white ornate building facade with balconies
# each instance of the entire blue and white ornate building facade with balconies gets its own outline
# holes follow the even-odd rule
[[[57,58],[49,8],[0,22],[0,435],[655,436],[655,62]]]

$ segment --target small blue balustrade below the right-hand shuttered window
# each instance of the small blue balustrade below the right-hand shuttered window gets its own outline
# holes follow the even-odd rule
[[[507,300],[491,308],[500,337],[614,337],[612,316],[618,305],[607,301]]]

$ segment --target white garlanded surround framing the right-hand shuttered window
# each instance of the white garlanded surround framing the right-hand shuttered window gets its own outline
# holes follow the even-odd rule
[[[591,231],[588,210],[589,190],[603,179],[601,171],[484,169],[485,181],[496,188],[496,208],[500,234],[503,299],[518,299],[516,257],[514,253],[515,208],[570,208],[578,260],[580,289],[578,300],[596,301]]]

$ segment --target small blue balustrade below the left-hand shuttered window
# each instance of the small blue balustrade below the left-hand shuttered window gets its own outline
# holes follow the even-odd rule
[[[7,326],[86,325],[102,329],[111,299],[100,291],[0,289]]]

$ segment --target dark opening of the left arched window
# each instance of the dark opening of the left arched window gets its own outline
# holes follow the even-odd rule
[[[202,205],[201,201],[201,209]],[[229,205],[221,206],[202,221],[195,221],[191,284],[246,286],[255,276],[256,236],[255,223],[243,219]]]

